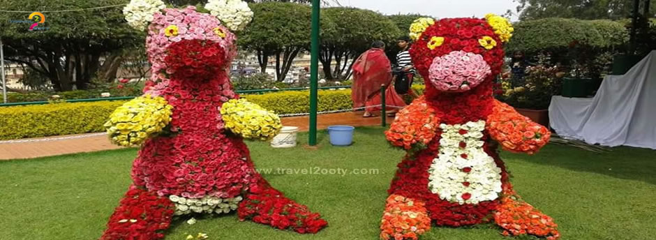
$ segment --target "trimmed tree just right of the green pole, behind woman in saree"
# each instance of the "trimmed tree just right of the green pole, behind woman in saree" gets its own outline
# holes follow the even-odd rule
[[[392,20],[371,10],[324,8],[322,15],[334,24],[327,33],[322,33],[321,39],[319,60],[327,79],[348,77],[353,60],[368,50],[374,40],[392,42],[401,35],[401,30]],[[331,68],[333,60],[336,64]]]

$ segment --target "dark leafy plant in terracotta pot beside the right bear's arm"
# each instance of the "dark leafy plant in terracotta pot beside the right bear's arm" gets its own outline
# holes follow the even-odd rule
[[[549,126],[551,96],[560,93],[564,75],[556,66],[528,66],[519,87],[511,87],[507,79],[501,81],[501,94],[497,98],[532,121]]]

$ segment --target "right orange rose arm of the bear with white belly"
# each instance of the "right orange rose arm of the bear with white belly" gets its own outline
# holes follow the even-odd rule
[[[486,129],[490,136],[501,143],[503,149],[533,154],[549,142],[551,132],[512,107],[494,100],[492,114],[487,119]]]

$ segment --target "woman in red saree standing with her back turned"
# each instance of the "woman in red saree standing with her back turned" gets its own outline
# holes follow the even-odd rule
[[[351,98],[353,107],[365,107],[363,117],[372,117],[372,112],[380,111],[380,86],[385,84],[385,111],[394,113],[398,107],[405,107],[403,98],[398,96],[392,85],[392,66],[385,55],[385,43],[375,41],[355,60],[353,64],[353,87]],[[396,107],[392,107],[396,106]]]

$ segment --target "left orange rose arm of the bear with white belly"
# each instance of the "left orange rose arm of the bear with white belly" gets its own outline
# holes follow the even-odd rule
[[[435,137],[440,118],[435,110],[428,107],[424,96],[417,98],[408,107],[403,108],[385,132],[387,141],[403,149],[423,149]]]

